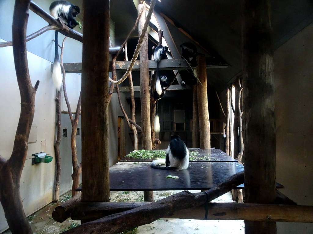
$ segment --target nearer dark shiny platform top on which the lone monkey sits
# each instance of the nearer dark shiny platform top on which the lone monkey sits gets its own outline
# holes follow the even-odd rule
[[[209,189],[242,170],[243,165],[236,162],[192,162],[182,171],[153,169],[150,163],[117,163],[110,167],[110,191]]]

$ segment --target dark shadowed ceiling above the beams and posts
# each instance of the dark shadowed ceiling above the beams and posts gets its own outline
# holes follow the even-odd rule
[[[313,22],[313,0],[272,0],[270,3],[275,50]],[[155,11],[174,22],[175,26],[167,21],[167,26],[177,48],[183,42],[190,41],[178,30],[181,27],[208,51],[207,55],[220,57],[230,65],[228,68],[207,69],[208,83],[218,92],[240,74],[241,1],[161,0],[156,2]],[[120,45],[136,21],[134,1],[110,0],[110,17],[115,23],[115,45]],[[138,36],[137,30],[133,36]]]

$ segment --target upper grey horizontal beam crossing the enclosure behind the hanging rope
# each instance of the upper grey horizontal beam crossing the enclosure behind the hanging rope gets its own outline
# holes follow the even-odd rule
[[[218,58],[208,57],[206,60],[207,69],[211,68],[227,68],[229,65]],[[116,71],[126,71],[131,61],[116,61]],[[156,62],[154,60],[148,61],[149,71],[156,70]],[[81,63],[64,63],[66,73],[80,73]],[[192,67],[195,68],[195,67]],[[167,59],[159,62],[159,70],[188,70],[191,69],[186,60],[184,59]],[[140,61],[137,60],[131,71],[140,70]],[[51,70],[52,71],[52,70]],[[111,65],[110,65],[111,71]]]

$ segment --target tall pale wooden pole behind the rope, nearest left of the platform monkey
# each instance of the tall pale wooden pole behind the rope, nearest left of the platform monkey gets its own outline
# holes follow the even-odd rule
[[[145,4],[139,4],[138,14]],[[141,34],[146,22],[146,10],[141,14],[138,22],[138,32]],[[141,145],[142,149],[151,150],[151,125],[150,125],[150,92],[149,92],[149,65],[148,65],[148,33],[142,42],[140,53],[140,100],[141,100]],[[144,201],[153,201],[153,191],[144,191]]]

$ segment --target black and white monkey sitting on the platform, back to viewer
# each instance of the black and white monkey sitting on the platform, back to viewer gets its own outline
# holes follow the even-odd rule
[[[160,166],[160,165],[166,165]],[[153,160],[151,168],[163,170],[183,170],[189,166],[189,152],[185,143],[178,135],[171,136],[171,142],[167,147],[166,158]]]

